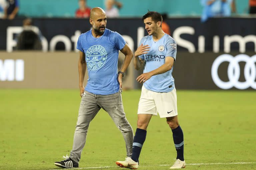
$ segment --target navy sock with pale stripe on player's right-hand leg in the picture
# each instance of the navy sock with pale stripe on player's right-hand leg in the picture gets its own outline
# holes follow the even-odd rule
[[[177,151],[176,159],[180,159],[184,161],[184,139],[183,139],[183,131],[180,126],[175,129],[172,129],[172,137],[174,141],[174,145]]]

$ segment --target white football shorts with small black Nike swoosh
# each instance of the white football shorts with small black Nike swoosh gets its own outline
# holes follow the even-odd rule
[[[161,93],[147,90],[142,86],[138,114],[157,116],[157,113],[160,118],[178,115],[176,89],[174,88],[167,93]]]

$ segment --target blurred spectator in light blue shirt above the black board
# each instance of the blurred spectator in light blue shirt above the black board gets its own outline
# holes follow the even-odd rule
[[[210,17],[223,16],[229,17],[231,15],[231,3],[233,0],[201,0],[203,5],[203,13],[201,21],[205,22]]]

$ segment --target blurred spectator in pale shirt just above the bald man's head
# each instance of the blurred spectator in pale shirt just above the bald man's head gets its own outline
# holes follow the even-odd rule
[[[123,4],[121,2],[115,1],[115,0],[106,0],[106,16],[108,18],[117,18],[119,17],[119,9],[122,8]],[[117,7],[114,7],[114,5]]]

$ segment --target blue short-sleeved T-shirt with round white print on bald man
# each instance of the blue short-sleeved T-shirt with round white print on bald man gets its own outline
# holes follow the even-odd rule
[[[76,48],[85,53],[89,75],[86,91],[99,95],[109,95],[119,91],[118,53],[125,44],[120,34],[108,29],[99,38],[92,36],[92,30],[79,36]]]

